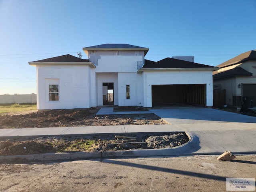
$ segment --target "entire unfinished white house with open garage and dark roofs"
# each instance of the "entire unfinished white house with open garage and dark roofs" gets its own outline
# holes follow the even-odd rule
[[[39,110],[104,104],[148,108],[171,103],[213,105],[212,71],[216,67],[174,58],[145,60],[149,49],[129,44],[83,50],[88,59],[63,55],[29,62],[36,66]]]

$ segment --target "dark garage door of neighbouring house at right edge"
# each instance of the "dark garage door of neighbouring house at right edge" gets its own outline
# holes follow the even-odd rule
[[[242,96],[247,108],[256,107],[256,84],[242,84]]]

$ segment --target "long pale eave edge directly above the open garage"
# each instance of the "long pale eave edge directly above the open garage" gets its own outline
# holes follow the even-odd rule
[[[216,71],[220,68],[140,68],[137,73],[142,73],[143,71]]]

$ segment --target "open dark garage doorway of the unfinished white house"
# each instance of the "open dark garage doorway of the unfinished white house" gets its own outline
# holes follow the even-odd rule
[[[152,85],[152,104],[206,105],[205,84]]]

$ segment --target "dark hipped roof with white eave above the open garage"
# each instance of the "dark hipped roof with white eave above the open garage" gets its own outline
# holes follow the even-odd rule
[[[138,73],[142,71],[153,71],[153,70],[218,70],[218,67],[204,65],[174,58],[165,58],[158,62],[152,62],[145,60],[145,65],[138,70]]]

